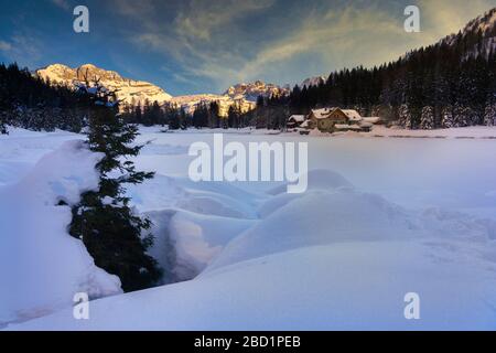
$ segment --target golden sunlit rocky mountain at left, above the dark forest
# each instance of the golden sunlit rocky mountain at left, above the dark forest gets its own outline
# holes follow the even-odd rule
[[[50,65],[37,69],[36,75],[50,79],[53,84],[73,85],[74,82],[88,79],[100,79],[100,83],[111,89],[117,89],[119,99],[129,104],[150,101],[168,101],[172,96],[162,88],[143,81],[125,78],[114,71],[106,71],[91,64],[85,64],[79,67],[68,67],[62,64]]]

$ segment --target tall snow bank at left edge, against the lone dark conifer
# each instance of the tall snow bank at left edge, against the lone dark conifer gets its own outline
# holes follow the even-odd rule
[[[71,207],[57,206],[98,185],[99,158],[83,141],[65,142],[18,184],[0,189],[0,324],[68,307],[77,292],[121,292],[120,280],[67,234]]]

